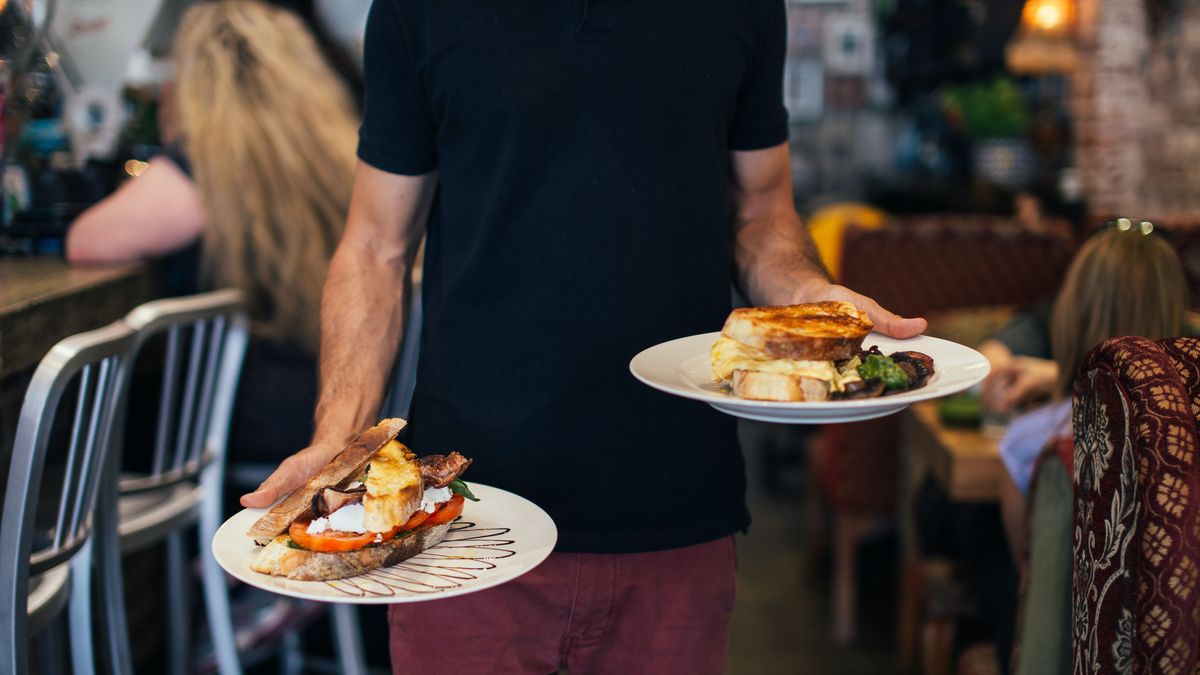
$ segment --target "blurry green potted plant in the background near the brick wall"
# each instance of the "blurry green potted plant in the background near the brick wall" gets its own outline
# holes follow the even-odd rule
[[[1037,171],[1027,137],[1031,115],[1012,78],[948,86],[941,102],[950,124],[971,141],[977,179],[1009,190],[1028,186]]]

